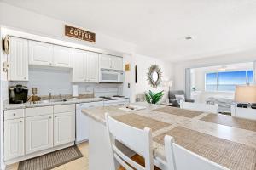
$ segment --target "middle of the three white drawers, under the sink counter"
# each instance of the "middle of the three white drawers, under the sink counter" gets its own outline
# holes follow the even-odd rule
[[[53,114],[53,106],[26,108],[25,114],[26,117]]]

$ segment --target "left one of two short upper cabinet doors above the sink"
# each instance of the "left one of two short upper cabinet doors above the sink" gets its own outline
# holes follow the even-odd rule
[[[29,65],[53,65],[53,45],[29,41]]]

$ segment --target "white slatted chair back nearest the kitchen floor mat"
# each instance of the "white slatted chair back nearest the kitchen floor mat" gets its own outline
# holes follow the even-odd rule
[[[131,127],[125,123],[119,122],[105,114],[110,144],[113,150],[113,159],[127,170],[153,170],[153,149],[152,149],[152,133],[151,129],[145,127],[143,130]],[[143,156],[145,167],[139,165],[136,161],[132,161],[126,156],[122,150],[116,146],[115,141],[119,141],[138,155]]]

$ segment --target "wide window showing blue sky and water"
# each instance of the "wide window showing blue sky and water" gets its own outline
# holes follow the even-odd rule
[[[206,91],[235,91],[236,85],[252,83],[253,71],[222,71],[206,74]]]

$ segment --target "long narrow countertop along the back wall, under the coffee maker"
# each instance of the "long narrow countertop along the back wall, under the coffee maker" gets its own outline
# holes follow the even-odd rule
[[[117,99],[117,98],[114,98]],[[129,99],[129,98],[118,98],[118,99]],[[102,99],[102,98],[84,98],[84,99],[67,99],[67,101],[54,101],[49,103],[24,103],[24,104],[5,104],[4,110],[14,110],[14,109],[25,109],[25,108],[32,108],[32,107],[42,107],[42,106],[49,106],[49,105],[68,105],[68,104],[79,104],[79,103],[90,103],[96,101],[107,101],[113,99]]]

